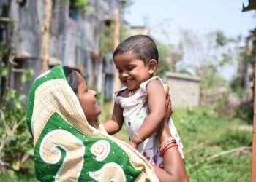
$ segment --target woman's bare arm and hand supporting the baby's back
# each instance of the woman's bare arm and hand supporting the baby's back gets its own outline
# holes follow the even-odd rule
[[[165,92],[169,92],[169,87],[167,87],[167,90],[165,90]],[[162,123],[162,126],[160,127],[159,130],[160,143],[164,142],[167,138],[171,136],[168,121],[173,111],[171,107],[170,95],[168,94],[165,106],[165,122]],[[165,152],[163,158],[164,169],[152,165],[152,167],[154,168],[154,172],[159,178],[159,181],[189,181],[183,159],[181,158],[181,154],[179,154],[178,149],[176,147],[171,147],[170,149],[168,149]]]

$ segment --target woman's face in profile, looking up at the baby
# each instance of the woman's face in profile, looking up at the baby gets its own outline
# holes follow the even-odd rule
[[[91,124],[97,119],[97,116],[102,113],[99,105],[96,102],[96,92],[89,90],[86,84],[86,80],[83,76],[78,74],[78,100],[83,108],[83,113],[86,115],[86,119]]]

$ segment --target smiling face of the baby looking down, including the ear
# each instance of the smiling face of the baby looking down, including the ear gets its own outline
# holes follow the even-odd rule
[[[135,54],[124,53],[115,55],[114,62],[121,83],[129,91],[137,90],[141,83],[151,77],[148,65],[143,60],[136,58]]]

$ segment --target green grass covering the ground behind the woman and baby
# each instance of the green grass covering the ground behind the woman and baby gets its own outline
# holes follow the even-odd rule
[[[99,118],[102,123],[110,119],[111,110],[110,103],[105,103]],[[246,124],[247,121],[219,117],[205,107],[175,109],[172,119],[184,144],[184,162],[189,181],[250,181],[250,151],[222,154],[241,146],[252,146],[252,132],[237,129],[238,125]],[[128,141],[125,126],[116,138]],[[222,155],[208,159],[216,154]],[[15,179],[34,181],[34,175],[15,175]],[[0,175],[0,181],[14,180],[6,173]]]

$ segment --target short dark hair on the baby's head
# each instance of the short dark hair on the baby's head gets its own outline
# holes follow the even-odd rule
[[[113,57],[118,54],[132,53],[146,64],[149,60],[155,59],[158,63],[158,50],[151,37],[146,35],[130,36],[121,41],[116,47]]]

